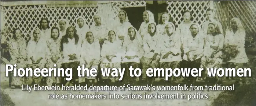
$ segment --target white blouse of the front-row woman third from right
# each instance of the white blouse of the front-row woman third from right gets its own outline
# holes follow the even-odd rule
[[[189,58],[191,61],[193,61],[193,57],[197,55],[196,59],[199,59],[203,56],[203,47],[204,47],[204,35],[198,34],[193,38],[193,36],[187,35],[186,38],[183,40],[183,50],[184,50],[184,55],[183,55],[183,60],[187,60],[187,55],[186,53],[189,52]]]

